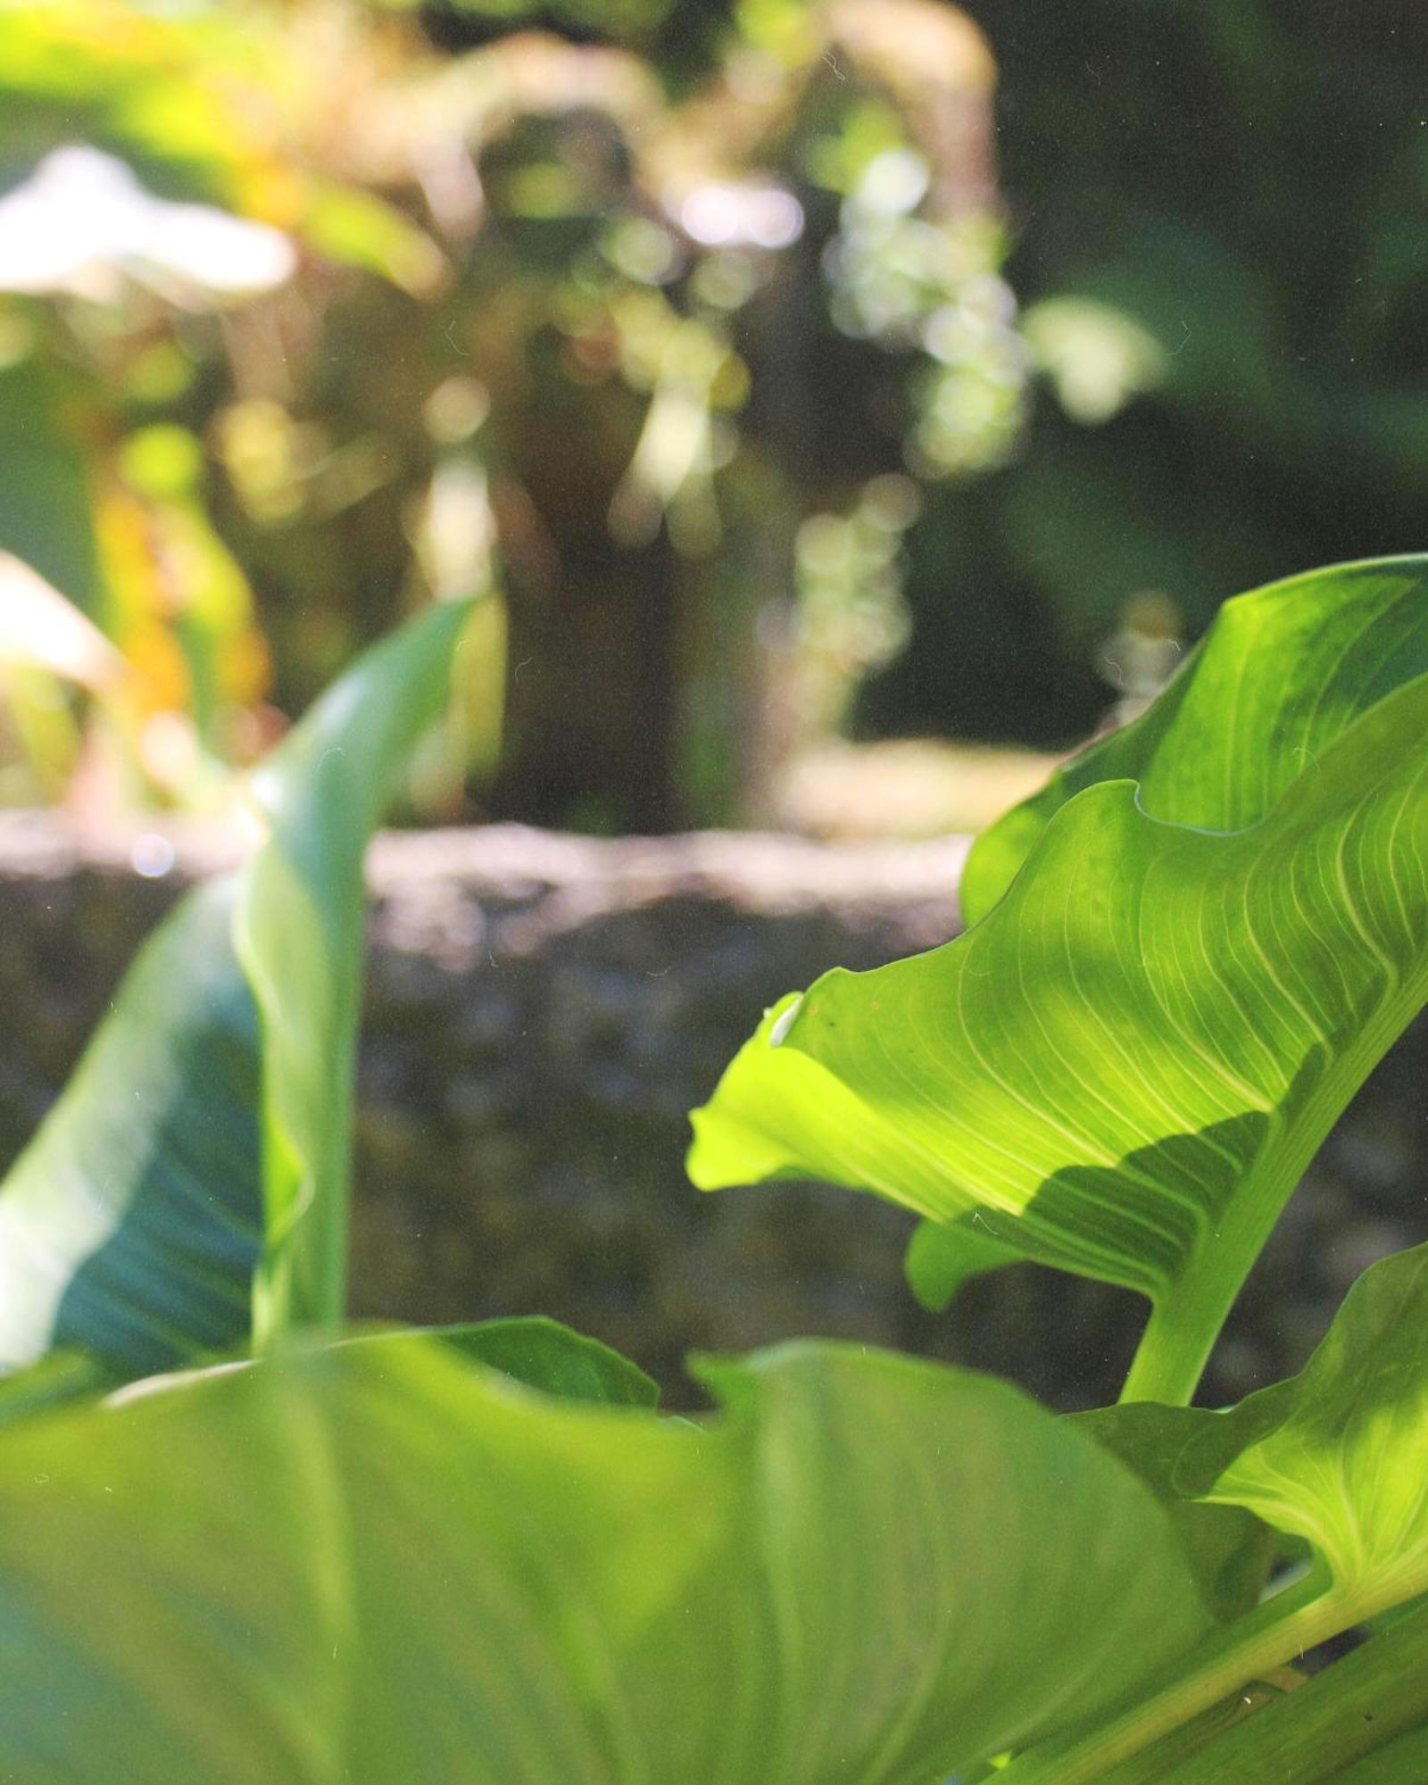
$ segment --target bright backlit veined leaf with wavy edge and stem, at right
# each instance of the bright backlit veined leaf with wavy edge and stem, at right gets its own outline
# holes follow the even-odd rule
[[[1382,580],[1324,573],[1316,607],[1330,584],[1382,619]],[[1428,591],[1396,587],[1401,644]],[[1283,653],[1244,666],[1246,707],[1294,675]],[[1428,678],[1308,735],[1257,823],[1173,823],[1098,782],[962,937],[784,1000],[694,1114],[694,1182],[826,1176],[975,1226],[962,1274],[1017,1251],[1139,1289],[1157,1314],[1132,1391],[1189,1398],[1303,1167],[1428,994]],[[955,1246],[932,1264],[955,1273]]]

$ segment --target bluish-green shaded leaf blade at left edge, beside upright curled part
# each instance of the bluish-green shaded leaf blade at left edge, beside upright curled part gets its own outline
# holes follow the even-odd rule
[[[0,1369],[77,1346],[123,1376],[227,1349],[259,1255],[257,1012],[232,880],[145,944],[0,1191]]]

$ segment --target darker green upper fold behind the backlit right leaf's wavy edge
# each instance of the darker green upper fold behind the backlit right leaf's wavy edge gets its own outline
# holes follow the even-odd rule
[[[1051,816],[1082,789],[1133,780],[1155,818],[1244,830],[1360,714],[1424,673],[1424,557],[1339,564],[1226,602],[1139,719],[976,839],[959,889],[964,919],[992,909]]]

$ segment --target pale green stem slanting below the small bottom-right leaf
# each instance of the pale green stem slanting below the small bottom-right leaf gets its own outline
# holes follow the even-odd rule
[[[1314,1574],[1223,1631],[1198,1665],[1089,1735],[1030,1749],[998,1785],[1100,1785],[1110,1769],[1366,1615]]]

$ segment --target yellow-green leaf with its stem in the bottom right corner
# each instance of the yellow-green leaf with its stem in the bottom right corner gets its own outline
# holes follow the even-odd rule
[[[1244,1508],[1301,1539],[1316,1567],[1282,1601],[1267,1601],[1210,1644],[1203,1665],[1198,1660],[1187,1680],[1173,1681],[1105,1730],[1034,1751],[1012,1767],[1009,1785],[1103,1778],[1119,1785],[1121,1773],[1110,1767],[1144,1748],[1148,1735],[1173,1731],[1305,1649],[1428,1594],[1428,1246],[1366,1271],[1298,1376],[1228,1412],[1148,1403],[1094,1414],[1089,1423],[1155,1482],[1162,1499]],[[1401,1664],[1394,1662],[1399,1651],[1407,1656]],[[1349,1723],[1362,1712],[1380,1717],[1373,1740],[1360,1730],[1362,1746],[1326,1749],[1342,1760],[1417,1724],[1428,1708],[1424,1655],[1428,1619],[1419,1608],[1374,1635],[1337,1685],[1332,1669],[1324,1689],[1316,1681],[1316,1690],[1296,1692],[1287,1705],[1273,1706],[1273,1715],[1266,1712],[1258,1724],[1262,1751],[1257,1714],[1223,1744],[1207,1748],[1203,1760],[1187,1762],[1185,1780],[1330,1776],[1274,1767],[1283,1755],[1326,1746],[1324,1705],[1330,1723],[1335,1705]],[[1225,1765],[1216,1771],[1212,1756],[1221,1748]],[[1262,1764],[1251,1764],[1253,1755]],[[1139,1781],[1162,1774],[1126,1764],[1125,1776]]]

